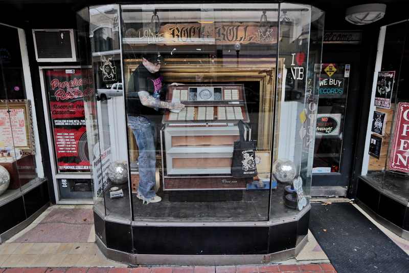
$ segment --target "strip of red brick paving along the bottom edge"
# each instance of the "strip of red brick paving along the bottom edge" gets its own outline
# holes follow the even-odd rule
[[[0,268],[0,273],[336,273],[329,263],[301,265],[155,266],[155,267],[29,267]]]

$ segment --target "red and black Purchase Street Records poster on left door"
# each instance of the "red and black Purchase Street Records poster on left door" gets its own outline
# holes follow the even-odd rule
[[[94,94],[92,72],[46,71],[57,167],[63,172],[89,172],[84,96]]]

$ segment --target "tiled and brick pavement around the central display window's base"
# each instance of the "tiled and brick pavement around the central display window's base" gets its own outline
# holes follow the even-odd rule
[[[95,243],[93,224],[92,205],[54,205],[49,207],[30,226],[0,245],[0,273],[336,272],[310,232],[308,233],[308,243],[297,257],[275,264],[136,267],[106,259]],[[409,253],[408,241],[382,226],[379,227],[406,253]],[[78,234],[73,233],[73,230],[77,230]],[[86,233],[85,236],[84,233]]]

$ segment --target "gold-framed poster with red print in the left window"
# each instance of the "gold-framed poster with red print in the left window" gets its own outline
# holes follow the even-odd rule
[[[33,116],[29,99],[0,100],[0,142],[35,154]]]

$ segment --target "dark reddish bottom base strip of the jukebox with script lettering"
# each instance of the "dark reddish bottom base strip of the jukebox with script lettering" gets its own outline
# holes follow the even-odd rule
[[[165,177],[165,191],[170,190],[244,190],[245,178],[220,177]]]

